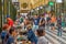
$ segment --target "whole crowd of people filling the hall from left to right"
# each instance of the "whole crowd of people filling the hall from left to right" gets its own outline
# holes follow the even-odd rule
[[[2,44],[19,44],[18,37],[22,37],[20,38],[22,44],[48,44],[45,30],[48,28],[54,31],[56,26],[57,35],[62,36],[61,15],[58,18],[51,13],[35,14],[33,18],[18,15],[15,21],[7,15],[7,23],[3,24],[1,32]]]

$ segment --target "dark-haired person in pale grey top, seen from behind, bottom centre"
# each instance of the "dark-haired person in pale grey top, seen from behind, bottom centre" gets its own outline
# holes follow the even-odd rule
[[[37,44],[48,44],[48,41],[45,38],[45,31],[43,29],[38,29],[37,33]]]

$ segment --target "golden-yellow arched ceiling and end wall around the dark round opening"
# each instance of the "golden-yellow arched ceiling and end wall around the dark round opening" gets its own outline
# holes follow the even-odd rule
[[[44,6],[48,3],[48,0],[19,0],[20,2],[20,10],[31,10],[35,9],[36,7]],[[28,8],[23,9],[21,6],[22,3],[28,3]]]

